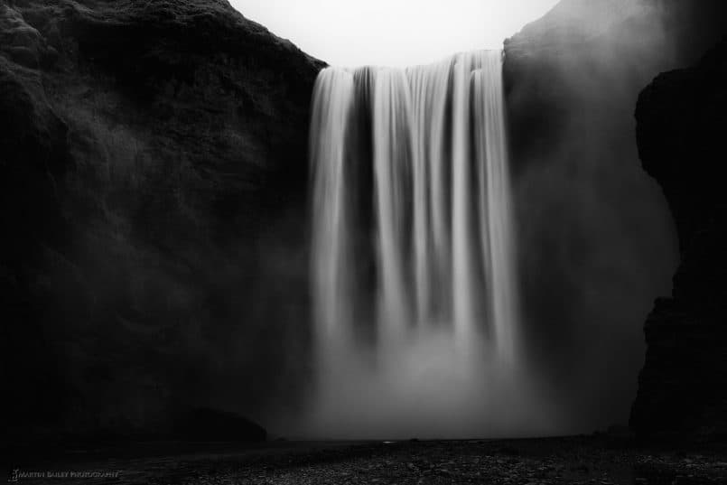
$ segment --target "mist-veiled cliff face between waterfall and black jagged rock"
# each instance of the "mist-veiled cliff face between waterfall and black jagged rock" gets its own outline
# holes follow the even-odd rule
[[[626,421],[643,321],[676,267],[664,195],[638,163],[638,92],[718,39],[726,7],[564,0],[506,41],[527,353],[570,431]]]

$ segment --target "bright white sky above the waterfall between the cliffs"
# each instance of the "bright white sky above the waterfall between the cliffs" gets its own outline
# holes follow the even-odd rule
[[[499,49],[557,0],[230,0],[313,57],[338,66],[408,66]]]

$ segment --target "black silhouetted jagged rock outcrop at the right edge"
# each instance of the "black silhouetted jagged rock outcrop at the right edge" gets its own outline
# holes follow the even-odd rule
[[[672,297],[646,325],[631,425],[640,434],[727,435],[727,40],[638,98],[638,153],[676,220]]]

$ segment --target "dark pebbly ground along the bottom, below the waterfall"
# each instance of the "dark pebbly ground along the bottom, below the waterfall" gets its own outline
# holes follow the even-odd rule
[[[116,458],[108,458],[113,454]],[[121,458],[119,458],[119,456]],[[601,437],[544,440],[144,445],[134,451],[77,452],[20,467],[19,482],[166,484],[727,483],[723,446],[675,451]],[[47,473],[101,478],[51,480]],[[45,476],[42,476],[43,474]],[[35,474],[35,478],[27,478]],[[25,478],[24,478],[25,477]],[[11,471],[11,480],[13,479]]]

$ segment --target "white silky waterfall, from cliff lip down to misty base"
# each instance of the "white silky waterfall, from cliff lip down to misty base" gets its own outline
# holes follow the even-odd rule
[[[502,53],[323,70],[311,146],[303,433],[547,433],[518,347]]]

